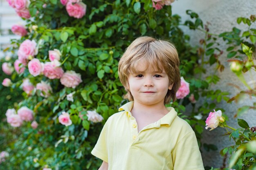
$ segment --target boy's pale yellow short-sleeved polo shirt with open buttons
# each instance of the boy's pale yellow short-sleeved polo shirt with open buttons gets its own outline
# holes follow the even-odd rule
[[[132,107],[128,102],[108,118],[92,150],[108,170],[204,170],[195,133],[173,107],[139,133]]]

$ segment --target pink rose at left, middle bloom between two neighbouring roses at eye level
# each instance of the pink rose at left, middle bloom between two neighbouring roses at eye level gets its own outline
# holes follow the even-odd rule
[[[54,60],[52,62],[46,62],[43,74],[50,79],[61,78],[64,71],[58,65],[59,64],[56,64],[56,60]]]

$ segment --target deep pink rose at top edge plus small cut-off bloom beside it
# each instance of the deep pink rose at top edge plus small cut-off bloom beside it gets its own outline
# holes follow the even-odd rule
[[[61,4],[66,6],[67,13],[70,17],[81,18],[86,13],[86,4],[81,0],[60,0]]]

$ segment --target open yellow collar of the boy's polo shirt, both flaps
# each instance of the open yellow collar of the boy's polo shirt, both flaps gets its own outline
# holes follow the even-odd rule
[[[122,107],[120,107],[118,109],[118,111],[127,111],[130,112],[132,110],[133,107],[133,101],[126,103],[125,105],[123,105]],[[162,117],[161,119],[159,119],[157,122],[159,122],[160,124],[166,124],[168,126],[171,125],[171,123],[173,122],[173,120],[176,118],[177,116],[177,112],[175,111],[175,109],[173,107],[166,107],[166,109],[169,111],[164,117]],[[129,114],[129,113],[128,113]]]

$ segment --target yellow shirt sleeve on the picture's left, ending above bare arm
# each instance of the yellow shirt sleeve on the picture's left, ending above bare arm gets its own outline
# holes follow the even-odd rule
[[[108,121],[104,124],[97,144],[92,149],[92,155],[108,163]]]

